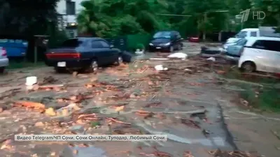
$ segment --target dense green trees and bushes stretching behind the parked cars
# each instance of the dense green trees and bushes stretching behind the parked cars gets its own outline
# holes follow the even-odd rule
[[[280,0],[86,0],[81,5],[79,30],[107,38],[165,29],[175,29],[183,36],[236,31],[259,24],[277,26],[280,20]],[[236,15],[248,8],[251,15],[241,24]],[[265,12],[265,19],[253,20],[253,11]]]

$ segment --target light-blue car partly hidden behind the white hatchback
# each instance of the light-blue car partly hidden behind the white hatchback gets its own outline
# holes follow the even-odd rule
[[[247,43],[247,38],[242,38],[238,40],[235,45],[228,45],[225,48],[225,59],[229,59],[232,61],[238,61],[241,55],[241,50],[243,49],[244,45]]]

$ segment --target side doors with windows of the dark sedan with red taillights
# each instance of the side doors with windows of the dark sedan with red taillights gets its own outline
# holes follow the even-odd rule
[[[110,46],[104,47],[102,40],[92,40],[92,53],[96,55],[99,65],[106,65],[111,62]]]

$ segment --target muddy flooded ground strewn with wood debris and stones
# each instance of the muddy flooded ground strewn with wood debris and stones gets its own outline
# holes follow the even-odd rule
[[[37,68],[1,76],[0,156],[279,156],[277,115],[239,109],[235,87],[205,59],[147,59],[166,55],[97,75]],[[158,64],[169,69],[158,72]],[[39,84],[27,90],[32,75]],[[166,134],[168,141],[15,142],[15,134]]]

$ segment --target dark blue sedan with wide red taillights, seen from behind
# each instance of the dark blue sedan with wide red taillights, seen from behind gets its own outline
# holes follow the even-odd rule
[[[123,62],[123,52],[102,38],[70,38],[60,47],[48,50],[45,56],[46,64],[57,72],[67,68],[95,73],[99,66]]]

